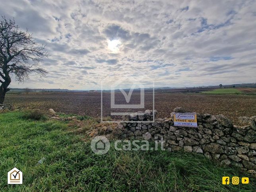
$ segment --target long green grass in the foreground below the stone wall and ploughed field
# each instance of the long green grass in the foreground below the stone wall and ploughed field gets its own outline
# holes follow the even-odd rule
[[[84,135],[58,121],[0,114],[0,191],[254,191],[255,185],[221,184],[239,176],[202,155],[167,151],[116,151],[95,155]],[[69,130],[69,131],[68,131]],[[36,166],[39,159],[45,162]],[[7,172],[23,172],[22,185],[7,185]]]

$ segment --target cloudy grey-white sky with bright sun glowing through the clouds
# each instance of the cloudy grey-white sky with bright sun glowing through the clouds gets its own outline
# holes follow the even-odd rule
[[[0,0],[50,57],[11,87],[100,89],[256,82],[255,0]],[[143,78],[142,78],[143,77]],[[124,87],[126,88],[126,87]]]

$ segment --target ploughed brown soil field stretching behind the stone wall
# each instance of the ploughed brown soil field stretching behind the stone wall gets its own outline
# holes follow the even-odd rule
[[[116,103],[124,101],[123,95],[117,93]],[[139,93],[135,93],[131,98],[132,103],[138,104],[137,101],[140,101]],[[101,116],[101,93],[8,94],[5,103],[32,109],[52,108],[56,112]],[[170,116],[175,107],[186,107],[201,114],[223,114],[236,123],[239,116],[256,115],[256,96],[155,93],[158,117]],[[152,93],[145,93],[145,108],[140,111],[145,109],[152,109]],[[103,116],[109,116],[110,112],[110,93],[103,93]]]

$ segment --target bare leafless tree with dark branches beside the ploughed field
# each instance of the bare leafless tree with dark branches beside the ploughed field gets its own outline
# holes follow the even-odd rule
[[[31,72],[45,76],[47,71],[39,67],[48,56],[45,46],[39,46],[28,31],[21,31],[14,20],[2,17],[0,21],[0,104],[10,91],[11,76],[23,82]]]

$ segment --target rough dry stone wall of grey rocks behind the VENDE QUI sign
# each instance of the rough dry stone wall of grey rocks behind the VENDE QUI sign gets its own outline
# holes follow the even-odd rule
[[[175,108],[174,112],[186,112]],[[173,126],[173,118],[152,120],[153,111],[145,111],[144,116],[136,113],[129,116],[134,121],[121,123],[113,131],[121,139],[164,140],[169,151],[202,153],[224,165],[233,165],[252,174],[256,173],[256,116],[239,117],[244,126],[234,126],[227,117],[219,114],[197,113],[197,128]],[[136,122],[144,120],[145,122]]]

